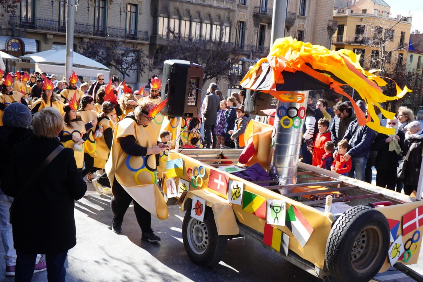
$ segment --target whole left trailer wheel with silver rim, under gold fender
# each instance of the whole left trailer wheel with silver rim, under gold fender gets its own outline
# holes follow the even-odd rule
[[[199,266],[213,266],[222,260],[228,236],[217,234],[213,210],[206,207],[204,220],[191,217],[187,210],[182,223],[182,239],[190,259]]]

